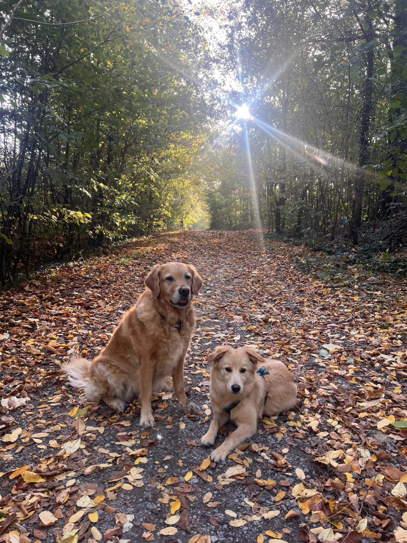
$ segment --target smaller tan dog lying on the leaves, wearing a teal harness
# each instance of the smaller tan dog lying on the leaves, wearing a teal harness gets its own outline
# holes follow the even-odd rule
[[[213,445],[219,428],[228,420],[237,424],[237,430],[211,454],[213,462],[223,462],[256,432],[257,420],[263,415],[278,415],[295,406],[297,387],[282,362],[265,360],[250,347],[218,346],[208,361],[212,362],[209,394],[213,420],[201,444]]]

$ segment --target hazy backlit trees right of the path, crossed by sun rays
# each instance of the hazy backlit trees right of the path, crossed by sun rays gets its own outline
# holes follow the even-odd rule
[[[233,99],[250,103],[255,117],[247,122],[255,182],[251,188],[244,123],[235,120],[217,155],[234,149],[240,175],[224,164],[213,176],[214,228],[256,226],[259,215],[270,231],[306,238],[317,232],[330,243],[349,237],[357,212],[359,239],[405,217],[406,13],[404,0],[233,3],[224,19],[222,77],[232,71],[241,81],[243,94],[239,87]],[[250,202],[258,214],[242,212]],[[393,225],[392,244],[406,241],[405,225]]]

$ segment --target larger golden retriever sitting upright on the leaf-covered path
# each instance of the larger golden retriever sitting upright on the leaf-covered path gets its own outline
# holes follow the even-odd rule
[[[64,369],[72,386],[86,388],[86,400],[103,399],[118,412],[141,397],[140,425],[147,428],[155,424],[151,394],[169,375],[182,411],[199,411],[185,395],[183,367],[195,325],[192,299],[203,283],[194,266],[182,262],[156,264],[144,283],[148,289],[100,355],[93,361],[75,357]]]

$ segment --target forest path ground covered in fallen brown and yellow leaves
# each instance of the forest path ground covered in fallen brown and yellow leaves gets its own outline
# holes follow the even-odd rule
[[[0,503],[10,527],[3,535],[20,518],[16,529],[31,541],[55,536],[58,543],[94,543],[99,534],[169,543],[315,541],[302,523],[327,529],[327,540],[330,528],[338,540],[351,528],[349,541],[389,538],[404,508],[398,481],[407,479],[407,432],[395,427],[407,426],[405,280],[345,264],[340,282],[326,284],[300,269],[309,258],[317,255],[263,242],[254,231],[170,232],[4,293]],[[142,432],[137,401],[124,414],[86,404],[66,386],[61,365],[75,351],[96,356],[151,266],[171,260],[194,264],[205,282],[185,367],[189,397],[202,412],[182,416],[166,391],[153,402],[156,428]],[[224,342],[286,363],[298,403],[259,423],[244,452],[199,470],[210,451],[196,446],[212,418],[206,359]],[[19,401],[26,405],[16,407]],[[225,479],[233,465],[236,475]],[[19,468],[23,475],[14,474]],[[171,503],[174,515],[181,512],[176,526],[164,522]],[[359,513],[368,522],[363,534]],[[64,523],[79,532],[67,539]]]

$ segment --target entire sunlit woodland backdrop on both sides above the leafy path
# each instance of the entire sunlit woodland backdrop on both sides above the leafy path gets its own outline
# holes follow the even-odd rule
[[[405,248],[404,0],[14,6],[0,3],[3,285],[162,230]],[[234,116],[244,102],[254,119]]]

